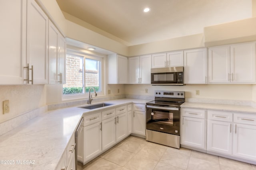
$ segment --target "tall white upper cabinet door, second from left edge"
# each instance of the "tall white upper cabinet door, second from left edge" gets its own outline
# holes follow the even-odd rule
[[[48,84],[48,17],[34,0],[28,0],[27,8],[27,63],[34,74],[30,77],[33,84]]]

